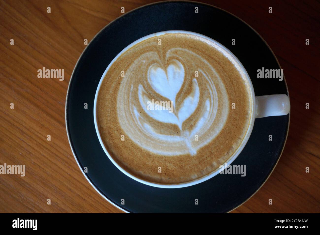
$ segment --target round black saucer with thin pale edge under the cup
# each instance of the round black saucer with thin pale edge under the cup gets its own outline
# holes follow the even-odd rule
[[[199,13],[195,13],[195,7]],[[232,165],[246,165],[246,176],[220,175],[194,186],[163,189],[125,176],[100,146],[93,102],[101,75],[111,60],[135,40],[165,30],[186,30],[215,39],[241,61],[255,95],[288,94],[285,81],[257,78],[257,69],[279,69],[264,40],[234,15],[196,2],[149,4],[124,14],[96,35],[78,60],[70,79],[66,125],[71,148],[89,182],[107,200],[127,212],[228,212],[250,198],[271,174],[282,153],[289,114],[256,119],[252,135]],[[236,45],[231,40],[236,39]],[[88,103],[88,109],[84,109]],[[273,140],[269,141],[268,136]],[[121,200],[124,199],[124,205]],[[199,200],[195,205],[195,199]]]

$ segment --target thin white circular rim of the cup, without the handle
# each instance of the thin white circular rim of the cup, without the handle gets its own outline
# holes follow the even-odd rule
[[[128,171],[124,170],[121,166],[119,166],[119,164],[117,164],[117,162],[111,157],[111,155],[108,153],[106,147],[104,146],[104,143],[102,141],[102,138],[100,136],[100,132],[99,132],[99,128],[98,128],[98,123],[97,123],[97,115],[96,115],[96,107],[97,107],[97,98],[98,98],[98,94],[99,94],[99,90],[100,90],[100,86],[102,84],[102,81],[104,80],[109,68],[113,65],[113,63],[119,58],[120,55],[122,55],[125,51],[127,51],[128,49],[130,49],[131,47],[133,47],[134,45],[136,45],[137,43],[140,43],[148,38],[151,37],[155,37],[155,36],[160,36],[160,35],[164,35],[164,34],[177,34],[177,33],[185,33],[185,34],[191,34],[191,35],[197,35],[200,37],[203,37],[204,39],[207,39],[211,42],[213,42],[215,45],[217,45],[216,49],[222,49],[224,52],[227,52],[227,56],[228,59],[234,64],[234,66],[237,67],[238,71],[240,72],[242,77],[245,77],[249,83],[249,87],[250,87],[250,91],[251,91],[251,117],[250,117],[250,122],[249,122],[249,128],[247,129],[247,132],[241,142],[241,144],[239,145],[239,147],[236,149],[236,151],[231,155],[231,157],[223,163],[223,165],[227,164],[230,165],[237,157],[238,155],[242,152],[244,146],[247,144],[249,137],[251,136],[252,133],[252,129],[253,129],[253,124],[254,124],[254,120],[255,120],[255,112],[256,112],[256,105],[255,105],[255,94],[254,94],[254,89],[253,89],[253,85],[250,79],[249,74],[247,73],[246,69],[244,68],[244,66],[242,65],[242,63],[240,62],[240,60],[228,49],[226,48],[224,45],[222,45],[221,43],[217,42],[216,40],[199,34],[199,33],[195,33],[192,31],[186,31],[186,30],[166,30],[166,31],[161,31],[161,32],[156,32],[153,34],[149,34],[146,36],[143,36],[141,38],[139,38],[138,40],[130,43],[128,46],[126,46],[122,51],[120,51],[116,57],[109,63],[108,67],[105,69],[104,73],[102,74],[101,78],[100,78],[100,82],[97,86],[97,90],[95,93],[95,97],[94,97],[94,104],[93,104],[93,120],[94,120],[94,126],[96,129],[96,133],[100,142],[100,145],[102,147],[102,149],[104,150],[104,152],[106,153],[106,155],[108,156],[109,160],[122,172],[124,173],[126,176],[129,176],[130,178],[142,183],[142,184],[146,184],[149,186],[153,186],[153,187],[158,187],[158,188],[183,188],[183,187],[188,187],[188,186],[192,186],[195,184],[199,184],[202,183],[208,179],[211,179],[213,176],[216,176],[217,174],[219,174],[220,168],[217,168],[216,170],[208,173],[205,176],[202,176],[200,178],[191,180],[191,181],[187,181],[187,182],[182,182],[182,183],[173,183],[173,184],[161,184],[161,183],[157,183],[157,182],[151,182],[151,181],[146,181],[143,180],[137,176],[134,176],[132,174],[130,174]],[[221,51],[221,50],[219,50]]]

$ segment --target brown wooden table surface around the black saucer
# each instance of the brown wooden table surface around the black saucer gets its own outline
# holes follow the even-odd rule
[[[0,212],[120,212],[76,164],[65,127],[66,93],[84,39],[90,42],[120,16],[122,6],[128,12],[151,2],[0,1],[0,165],[26,165],[25,177],[0,175]],[[280,161],[233,212],[320,212],[319,2],[204,2],[235,14],[266,40],[284,69],[291,100]],[[37,78],[42,67],[64,69],[64,81]]]

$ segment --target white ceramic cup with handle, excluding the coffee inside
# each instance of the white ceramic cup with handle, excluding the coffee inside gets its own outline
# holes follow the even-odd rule
[[[97,97],[98,97],[98,93],[99,93],[99,89],[100,89],[102,80],[104,79],[105,75],[107,74],[109,68],[116,61],[116,59],[118,59],[118,57],[121,54],[123,54],[125,51],[130,49],[135,44],[140,43],[141,41],[144,41],[144,40],[146,40],[146,39],[148,39],[150,37],[160,36],[160,35],[164,35],[164,34],[172,34],[172,33],[173,34],[174,33],[187,33],[187,34],[192,34],[192,35],[198,35],[198,36],[201,36],[201,37],[203,37],[205,39],[208,39],[208,40],[212,41],[214,43],[214,45],[215,45],[215,48],[218,49],[219,51],[221,51],[222,53],[224,53],[224,55],[228,57],[228,59],[237,67],[237,69],[239,70],[241,75],[243,75],[243,77],[247,78],[248,84],[250,84],[250,88],[251,88],[250,90],[251,90],[251,96],[252,96],[251,97],[252,98],[252,107],[251,107],[252,108],[252,113],[251,113],[249,128],[248,128],[248,130],[246,132],[246,135],[245,135],[241,145],[238,147],[236,152],[228,159],[228,161],[225,162],[225,163],[227,163],[227,166],[230,165],[236,159],[236,157],[241,153],[241,151],[243,150],[244,146],[248,142],[248,139],[249,139],[249,137],[251,135],[251,132],[252,132],[253,123],[254,123],[254,119],[255,118],[287,115],[290,112],[289,97],[287,95],[285,95],[285,94],[267,95],[267,96],[255,96],[250,77],[249,77],[247,71],[245,70],[245,68],[243,67],[243,65],[241,64],[241,62],[225,46],[223,46],[222,44],[220,44],[217,41],[213,40],[212,38],[209,38],[209,37],[207,37],[205,35],[201,35],[201,34],[198,34],[198,33],[189,32],[189,31],[170,30],[170,31],[163,31],[163,32],[150,34],[150,35],[144,36],[144,37],[138,39],[137,41],[131,43],[126,48],[124,48],[111,61],[111,63],[108,65],[108,67],[106,68],[106,70],[104,71],[104,73],[103,73],[103,75],[102,75],[102,77],[100,79],[100,82],[99,82],[98,87],[97,87],[96,95],[95,95],[95,98],[94,98],[94,107],[93,107],[94,125],[95,125],[95,128],[96,128],[96,132],[97,132],[100,144],[101,144],[104,152],[107,154],[107,156],[110,159],[110,161],[112,161],[112,163],[120,171],[122,171],[125,175],[129,176],[130,178],[132,178],[132,179],[134,179],[134,180],[136,180],[136,181],[138,181],[138,182],[140,182],[142,184],[147,184],[147,185],[154,186],[154,187],[159,187],[159,188],[182,188],[182,187],[187,187],[187,186],[199,184],[199,183],[204,182],[204,181],[212,178],[213,176],[219,174],[219,170],[220,169],[218,168],[215,171],[213,171],[213,172],[211,172],[211,173],[209,173],[209,174],[207,174],[205,176],[202,176],[201,178],[197,178],[195,180],[188,181],[188,182],[183,182],[183,183],[179,183],[179,184],[159,184],[159,183],[148,182],[148,181],[145,181],[143,179],[137,178],[136,176],[133,176],[132,174],[130,174],[129,172],[127,172],[126,170],[121,168],[116,163],[116,161],[113,160],[113,158],[110,156],[110,154],[108,153],[106,147],[104,146],[104,144],[102,142],[102,139],[101,139],[101,136],[100,136],[100,133],[99,133],[99,129],[98,129],[98,125],[97,125],[96,108],[97,108]],[[108,78],[106,78],[106,79],[108,79]]]

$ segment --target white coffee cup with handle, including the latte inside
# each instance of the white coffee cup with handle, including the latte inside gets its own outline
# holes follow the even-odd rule
[[[171,48],[174,40],[180,40],[180,44],[182,42],[186,44],[182,47],[177,46],[177,44],[174,48]],[[170,45],[170,49],[166,50],[165,46],[161,47],[165,43],[168,47]],[[208,48],[212,48],[212,51],[214,51],[215,56],[212,56],[212,58],[210,53],[206,52],[210,52],[210,50],[198,50],[202,47],[201,45],[206,47],[207,44],[210,44]],[[149,51],[140,53],[142,46],[144,46],[143,48],[149,48]],[[128,53],[136,47],[138,49],[140,47],[140,50],[137,49],[135,53]],[[156,49],[158,50],[157,53],[152,53],[150,48],[159,49]],[[178,49],[176,50],[176,48]],[[137,52],[140,54],[137,54]],[[126,58],[128,54],[130,57],[127,56],[128,58]],[[136,54],[137,58],[135,58]],[[165,63],[161,63],[161,55],[167,58]],[[192,59],[190,60],[190,58]],[[202,61],[202,64],[199,61]],[[213,66],[211,61],[215,61],[212,63],[216,66]],[[221,64],[219,64],[220,61],[222,61]],[[188,72],[190,66],[195,68],[189,69],[192,71],[192,75]],[[228,67],[228,69],[225,69],[225,67]],[[116,70],[119,71],[115,73]],[[194,74],[193,71],[195,71]],[[197,77],[196,72],[202,74],[202,77]],[[120,77],[114,78],[114,76],[111,76],[112,73],[119,74]],[[108,77],[108,74],[111,75]],[[139,81],[137,74],[138,77],[141,76],[141,81],[145,77],[144,83],[137,83]],[[134,78],[133,75],[135,75]],[[223,75],[226,75],[227,78]],[[233,77],[237,77],[237,79],[231,81],[230,78]],[[108,79],[114,79],[115,81],[112,81],[112,84],[104,84],[103,81]],[[222,82],[219,82],[219,79]],[[152,92],[149,92],[149,90],[152,90]],[[160,111],[158,113],[157,110],[150,111],[148,107],[144,106],[145,104],[150,104],[150,107],[153,108],[162,107],[159,104],[154,105],[156,102],[151,102],[152,95],[150,94],[159,94],[158,97],[167,99],[163,100],[163,104],[164,102],[172,102],[168,103],[171,104],[171,106],[169,105],[171,109],[169,107],[167,113],[162,110],[162,116],[158,114]],[[179,97],[181,97],[180,102]],[[245,102],[241,101],[241,97],[244,97]],[[232,102],[233,98],[237,101]],[[132,100],[136,100],[136,103]],[[245,105],[242,103],[245,103]],[[137,106],[142,111],[136,109]],[[143,107],[141,108],[141,106]],[[193,108],[193,106],[195,107]],[[110,108],[113,108],[112,111],[110,111]],[[227,111],[228,114],[226,114]],[[220,171],[219,163],[230,165],[248,142],[255,118],[287,115],[289,112],[290,101],[286,94],[255,96],[247,71],[236,56],[225,46],[195,32],[170,30],[138,39],[124,48],[110,62],[96,90],[93,117],[101,147],[109,160],[126,176],[149,186],[181,188],[199,184],[216,176]],[[141,115],[147,116],[148,120]],[[104,117],[109,117],[108,121],[105,121]],[[237,117],[240,120],[239,124],[235,123]],[[112,121],[115,124],[112,124]],[[150,125],[150,123],[154,123],[155,126]],[[242,125],[242,123],[244,124]],[[161,126],[163,126],[163,129],[161,129]],[[244,126],[244,130],[238,130],[242,126]],[[115,127],[116,129],[113,130]],[[190,127],[192,128],[190,129]],[[240,133],[238,139],[235,137],[229,140],[227,132],[223,132],[226,128],[236,133],[231,134],[230,138]],[[198,133],[193,132],[193,130],[197,130]],[[180,134],[168,134],[178,132]],[[146,136],[143,137],[143,135]],[[200,138],[200,142],[192,139],[197,138],[197,136]],[[148,137],[152,138],[153,141],[149,141]],[[230,143],[226,146],[219,144],[221,147],[218,150],[218,145],[212,143],[215,143],[215,140],[223,143],[222,137],[225,138],[226,143]],[[159,143],[157,143],[157,139]],[[114,144],[115,142],[117,144]],[[232,144],[235,145],[233,148],[229,146]],[[110,147],[111,145],[114,147]],[[226,152],[224,158],[228,159],[217,160],[218,156],[212,158],[213,164],[209,160],[210,164],[206,163],[207,166],[202,166],[203,161],[200,160],[197,163],[197,157],[203,156],[201,151],[205,151],[207,154],[206,159],[210,158],[210,153],[213,153],[210,150],[211,146],[216,147],[215,151]],[[130,152],[122,150],[126,147],[131,150],[133,155],[136,154],[135,157],[131,157]],[[120,160],[117,158],[119,155],[122,155]],[[148,156],[150,157],[148,158]],[[184,157],[191,160],[183,162]],[[152,162],[150,163],[150,161],[158,161],[159,158],[162,161],[154,165],[152,165]],[[182,167],[179,166],[178,160],[183,162]],[[167,164],[168,162],[170,164]],[[186,165],[188,162],[192,162],[193,166],[199,166],[199,172],[201,173],[195,174],[192,172],[192,166]],[[174,163],[176,166],[174,166]],[[166,167],[162,167],[162,165]],[[149,169],[150,166],[154,170],[152,173],[154,178],[151,177],[150,170],[144,171],[144,169]],[[187,177],[187,173],[184,174],[183,169],[181,169],[183,167],[190,171],[190,177]],[[165,171],[166,169],[168,170]],[[176,173],[177,171],[180,171],[180,173]],[[171,178],[166,177],[171,173]],[[178,177],[179,174],[181,177]],[[161,177],[158,177],[158,175],[161,175]],[[153,180],[158,178],[158,181]],[[173,178],[175,181],[172,180]],[[184,179],[187,180],[184,181]]]

